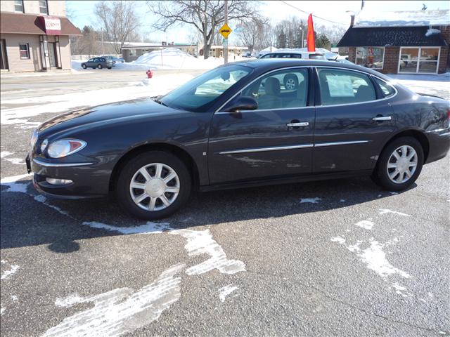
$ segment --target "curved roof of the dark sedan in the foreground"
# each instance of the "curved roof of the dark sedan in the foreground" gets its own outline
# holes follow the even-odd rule
[[[258,68],[262,72],[276,70],[284,67],[333,67],[335,69],[349,69],[358,70],[360,72],[366,72],[373,74],[377,77],[390,81],[391,79],[380,72],[371,70],[370,68],[361,67],[360,65],[354,65],[353,63],[342,63],[328,60],[314,60],[314,59],[301,59],[301,58],[257,58],[250,60],[240,60],[237,62],[230,62],[227,65],[243,65],[246,67]],[[224,67],[222,65],[221,67]]]

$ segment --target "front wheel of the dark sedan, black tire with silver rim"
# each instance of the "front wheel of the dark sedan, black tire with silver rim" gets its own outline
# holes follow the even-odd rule
[[[155,178],[155,176],[158,176],[157,167],[159,165],[162,166],[160,170],[160,177],[162,178]],[[146,169],[149,174],[147,179],[140,173],[141,169]],[[172,172],[176,174],[176,177],[164,183],[163,179],[168,178]],[[149,185],[146,181],[154,181],[155,183]],[[131,182],[141,187],[132,188]],[[162,189],[165,191],[167,188],[172,190],[178,188],[179,192],[177,195],[176,192],[160,193]],[[191,194],[191,189],[191,174],[184,162],[174,154],[163,151],[150,151],[136,155],[123,167],[117,178],[117,200],[121,206],[132,216],[146,220],[170,216],[186,203]],[[139,197],[143,197],[139,204],[131,197],[132,194],[138,201]],[[146,196],[143,194],[146,194]],[[149,194],[153,195],[150,196]],[[161,194],[161,197],[158,197],[158,194]],[[170,203],[169,205],[163,202],[163,196],[166,198],[166,203]],[[153,199],[155,199],[153,211],[150,211]]]

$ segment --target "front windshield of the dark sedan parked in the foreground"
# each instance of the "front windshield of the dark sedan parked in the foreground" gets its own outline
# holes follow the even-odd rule
[[[167,93],[159,102],[175,109],[204,111],[216,98],[247,77],[251,71],[251,68],[242,65],[218,67]]]

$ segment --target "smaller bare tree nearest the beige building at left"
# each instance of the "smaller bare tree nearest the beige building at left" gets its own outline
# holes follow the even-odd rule
[[[121,53],[126,41],[138,37],[140,26],[133,1],[100,1],[96,4],[96,16],[101,24],[105,39],[113,44],[115,52]]]

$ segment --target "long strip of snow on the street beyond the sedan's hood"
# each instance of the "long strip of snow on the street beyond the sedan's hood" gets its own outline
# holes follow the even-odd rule
[[[63,95],[40,96],[30,98],[19,98],[7,100],[2,98],[4,104],[22,104],[26,107],[15,107],[1,110],[1,124],[20,124],[23,128],[34,128],[39,122],[30,121],[32,117],[49,112],[65,112],[76,107],[91,107],[106,103],[146,98],[161,95],[184,84],[192,79],[189,74],[169,74],[153,79],[146,79],[137,86],[126,86],[124,88],[101,89],[84,92],[67,93]]]

